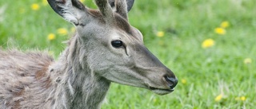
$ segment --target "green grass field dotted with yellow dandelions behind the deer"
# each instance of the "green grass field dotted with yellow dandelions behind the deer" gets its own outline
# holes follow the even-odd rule
[[[95,8],[91,1],[84,3]],[[256,106],[255,0],[136,0],[129,19],[179,83],[169,95],[112,84],[102,109]],[[0,49],[39,49],[57,59],[72,34],[45,1],[0,1]]]

